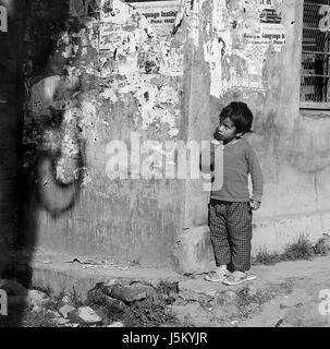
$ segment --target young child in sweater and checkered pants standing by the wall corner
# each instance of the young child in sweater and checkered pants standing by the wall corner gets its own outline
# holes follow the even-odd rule
[[[252,210],[258,209],[261,203],[262,173],[255,151],[242,137],[252,132],[252,122],[253,113],[246,104],[228,105],[220,113],[215,132],[218,142],[211,146],[211,157],[201,156],[201,170],[215,170],[217,177],[217,168],[212,169],[216,147],[223,142],[223,183],[221,189],[212,189],[209,202],[210,239],[217,268],[205,277],[208,281],[239,285],[256,278],[247,272],[250,268]],[[248,173],[253,183],[252,197]]]

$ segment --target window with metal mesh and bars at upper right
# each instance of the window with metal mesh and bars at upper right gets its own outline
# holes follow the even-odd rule
[[[301,108],[330,109],[330,0],[304,0]]]

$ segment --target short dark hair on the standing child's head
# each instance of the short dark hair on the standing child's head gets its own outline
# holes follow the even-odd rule
[[[253,113],[243,101],[232,101],[221,110],[220,121],[230,118],[236,128],[237,133],[253,132],[250,130]]]

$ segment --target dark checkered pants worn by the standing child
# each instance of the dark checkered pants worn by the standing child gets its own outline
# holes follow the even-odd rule
[[[217,266],[247,272],[250,268],[252,208],[248,202],[210,200],[210,239]]]

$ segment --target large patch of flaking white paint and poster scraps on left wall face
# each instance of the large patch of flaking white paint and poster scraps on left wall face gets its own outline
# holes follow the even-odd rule
[[[38,9],[38,1],[35,2]],[[170,33],[158,35],[146,17],[120,0],[70,0],[65,26],[49,63],[59,64],[62,74],[40,76],[35,83],[33,61],[25,62],[24,143],[29,145],[25,166],[33,158],[32,147],[60,149],[57,179],[68,181],[63,173],[68,173],[65,164],[77,155],[74,144],[97,142],[100,128],[110,127],[111,110],[118,104],[130,115],[131,109],[139,115],[132,131],[148,132],[155,125],[159,133],[166,130],[167,137],[178,136],[184,70],[182,41]],[[38,39],[32,28],[26,29],[25,36],[29,41]],[[134,105],[125,105],[131,98]],[[100,115],[105,106],[107,116]],[[46,124],[57,112],[62,113],[63,121],[60,131],[54,132]],[[78,137],[70,131],[72,121],[80,130]],[[88,169],[84,171],[87,173]]]

